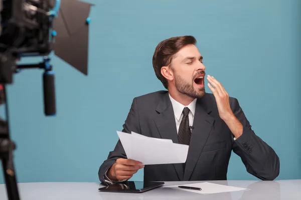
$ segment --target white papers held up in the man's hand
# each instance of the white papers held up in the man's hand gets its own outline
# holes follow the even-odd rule
[[[147,137],[135,132],[117,131],[128,159],[146,164],[184,163],[188,145],[173,143],[171,139]]]

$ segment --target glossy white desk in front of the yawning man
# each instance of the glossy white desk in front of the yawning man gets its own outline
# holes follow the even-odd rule
[[[166,182],[165,185],[187,184],[190,182]],[[33,182],[19,183],[19,192],[22,200],[180,200],[180,199],[301,199],[301,179],[254,181],[254,180],[220,180],[207,181],[230,186],[249,188],[250,190],[225,192],[216,194],[198,194],[187,191],[174,190],[168,187],[159,187],[143,193],[111,193],[100,192],[103,185],[97,182]],[[0,184],[0,200],[7,199],[5,184]]]

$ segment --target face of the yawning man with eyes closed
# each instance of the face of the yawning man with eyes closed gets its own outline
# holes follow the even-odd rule
[[[205,94],[205,65],[198,48],[189,44],[183,47],[172,61],[173,83],[180,93],[192,98]]]

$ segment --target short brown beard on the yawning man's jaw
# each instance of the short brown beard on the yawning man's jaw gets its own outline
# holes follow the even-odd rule
[[[205,78],[205,77],[204,77]],[[205,95],[205,85],[202,88],[195,89],[193,83],[186,82],[180,75],[175,73],[175,84],[177,90],[191,98],[201,98]]]

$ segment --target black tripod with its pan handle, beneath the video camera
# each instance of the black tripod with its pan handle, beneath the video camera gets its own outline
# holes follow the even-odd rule
[[[1,64],[1,63],[0,63]],[[6,67],[3,67],[6,69]],[[50,64],[50,58],[48,56],[44,57],[44,61],[37,64],[19,64],[16,67],[15,72],[19,72],[20,69],[26,68],[42,68],[45,70],[43,74],[43,91],[44,91],[44,112],[47,116],[52,116],[56,114],[56,104],[55,104],[55,85],[54,85],[54,73],[52,71],[52,65]],[[1,70],[1,67],[0,67]],[[15,143],[10,139],[10,129],[9,129],[9,111],[8,111],[8,101],[6,95],[6,80],[11,80],[9,73],[3,72],[3,78],[5,81],[2,82],[2,96],[0,99],[4,99],[6,106],[6,119],[0,119],[0,159],[2,160],[4,177],[6,181],[6,187],[8,192],[9,200],[19,200],[19,192],[16,180],[16,172],[14,169],[13,162],[13,150],[16,149]],[[0,73],[1,75],[1,73]],[[9,81],[10,82],[10,81]],[[1,84],[1,82],[0,82]]]

